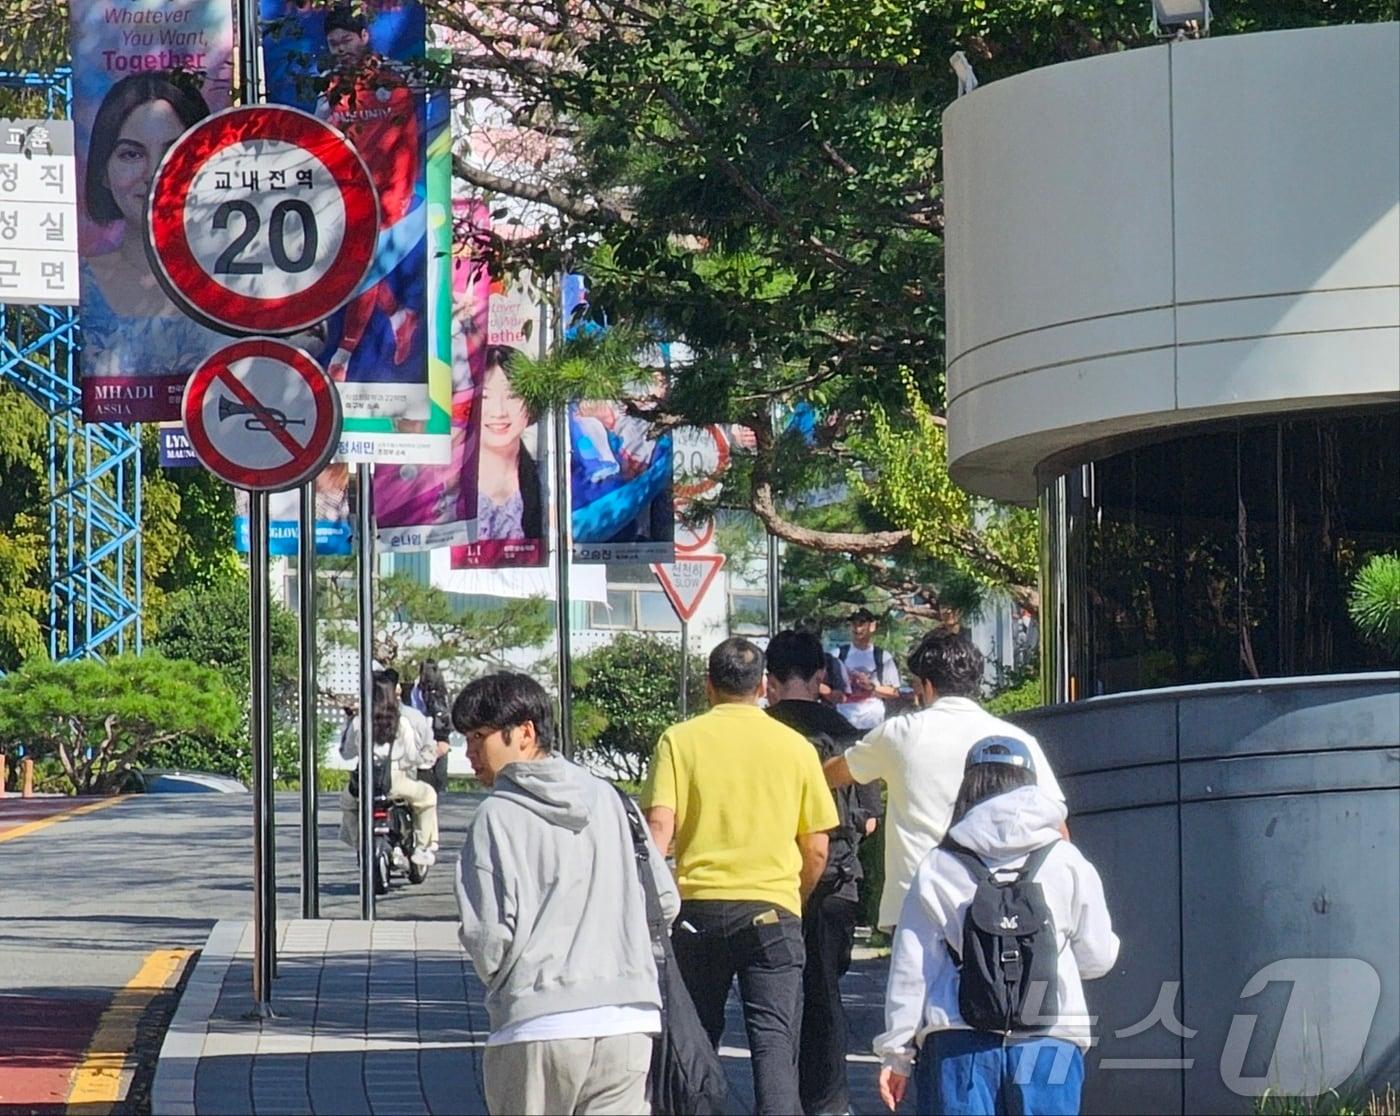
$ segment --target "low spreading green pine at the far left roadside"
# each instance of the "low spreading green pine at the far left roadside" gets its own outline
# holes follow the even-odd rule
[[[56,759],[76,794],[111,793],[150,749],[237,724],[238,700],[217,671],[151,653],[31,660],[0,679],[0,744]]]

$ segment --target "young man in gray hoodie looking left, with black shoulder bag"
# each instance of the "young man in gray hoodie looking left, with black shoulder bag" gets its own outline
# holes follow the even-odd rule
[[[491,1026],[486,1103],[493,1113],[647,1112],[661,993],[624,814],[634,808],[554,755],[549,695],[532,678],[476,679],[452,723],[491,790],[456,881],[462,944]],[[680,896],[650,853],[671,921]]]

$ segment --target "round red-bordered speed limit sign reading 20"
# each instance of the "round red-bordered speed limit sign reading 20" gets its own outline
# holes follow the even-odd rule
[[[283,105],[231,108],[167,151],[148,202],[161,286],[230,333],[295,333],[354,294],[379,200],[335,127]]]

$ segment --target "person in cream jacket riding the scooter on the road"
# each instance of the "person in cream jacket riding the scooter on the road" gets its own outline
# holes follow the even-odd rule
[[[374,709],[370,713],[370,728],[374,734],[375,760],[389,762],[389,797],[402,798],[413,811],[413,843],[410,860],[428,865],[437,860],[437,791],[417,779],[419,767],[431,767],[437,759],[437,742],[426,717],[399,702],[399,688],[395,678],[385,671],[374,675]],[[346,723],[340,732],[340,755],[356,759],[360,755],[360,717]],[[354,776],[351,776],[351,780]],[[342,837],[358,835],[354,823],[356,800],[349,790],[340,795]],[[356,844],[351,836],[349,844]]]

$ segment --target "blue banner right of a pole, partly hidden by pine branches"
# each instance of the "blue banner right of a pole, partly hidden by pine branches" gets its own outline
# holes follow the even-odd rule
[[[578,276],[564,281],[566,328],[584,330],[587,291]],[[665,377],[654,371],[634,399],[655,402]],[[672,438],[655,434],[624,400],[584,399],[568,405],[570,526],[574,562],[669,563],[675,557],[671,504]]]

